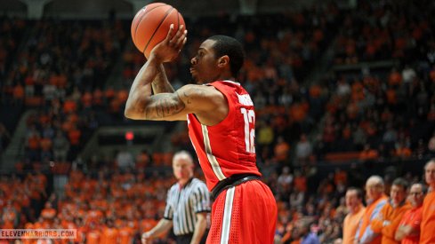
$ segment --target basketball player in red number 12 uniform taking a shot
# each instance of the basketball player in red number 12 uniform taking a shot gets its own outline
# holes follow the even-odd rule
[[[173,26],[134,79],[125,116],[188,121],[189,137],[214,199],[207,243],[273,243],[277,205],[255,164],[253,101],[237,83],[244,62],[234,38],[214,35],[190,60],[198,84],[174,91],[163,63],[177,58],[187,31]]]

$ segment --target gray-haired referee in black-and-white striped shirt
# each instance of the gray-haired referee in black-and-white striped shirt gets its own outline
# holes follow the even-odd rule
[[[172,226],[177,244],[205,243],[210,195],[205,183],[193,177],[193,167],[188,152],[173,155],[173,175],[177,183],[167,193],[165,215],[154,228],[142,234],[142,243],[149,243]]]

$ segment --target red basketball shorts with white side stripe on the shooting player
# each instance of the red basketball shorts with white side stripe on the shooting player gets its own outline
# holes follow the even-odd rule
[[[271,244],[277,225],[277,202],[260,180],[232,186],[213,202],[207,244]]]

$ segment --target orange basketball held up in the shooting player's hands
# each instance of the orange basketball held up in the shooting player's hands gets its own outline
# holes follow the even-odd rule
[[[136,13],[132,22],[134,45],[148,59],[154,46],[165,39],[171,24],[175,32],[181,25],[185,26],[181,13],[173,6],[163,3],[146,5]]]

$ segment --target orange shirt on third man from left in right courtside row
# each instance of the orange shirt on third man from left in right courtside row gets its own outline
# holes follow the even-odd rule
[[[382,233],[383,244],[399,244],[399,241],[394,239],[394,235],[399,227],[402,216],[411,208],[411,205],[407,202],[397,208],[393,208],[390,202],[383,206],[379,217],[372,221],[372,230]],[[386,224],[387,222],[389,224]]]

